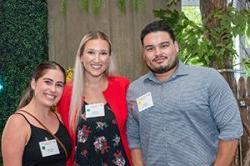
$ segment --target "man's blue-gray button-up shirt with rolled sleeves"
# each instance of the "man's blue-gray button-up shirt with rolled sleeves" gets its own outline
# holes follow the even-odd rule
[[[152,95],[153,106],[139,112],[136,99]],[[214,69],[179,63],[166,81],[148,73],[127,94],[129,147],[141,148],[146,166],[209,166],[218,141],[243,134],[237,102]]]

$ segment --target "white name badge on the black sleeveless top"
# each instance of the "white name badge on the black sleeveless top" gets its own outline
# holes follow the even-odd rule
[[[55,139],[39,142],[42,157],[59,154],[58,145]]]

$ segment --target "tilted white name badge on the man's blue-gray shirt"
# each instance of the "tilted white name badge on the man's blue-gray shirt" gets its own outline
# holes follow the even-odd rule
[[[136,99],[139,112],[144,111],[147,108],[154,106],[151,92],[148,92]]]

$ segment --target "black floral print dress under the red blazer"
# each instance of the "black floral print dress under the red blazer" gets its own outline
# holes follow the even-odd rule
[[[105,116],[86,118],[85,105],[77,125],[77,166],[129,166],[114,113],[104,105]]]

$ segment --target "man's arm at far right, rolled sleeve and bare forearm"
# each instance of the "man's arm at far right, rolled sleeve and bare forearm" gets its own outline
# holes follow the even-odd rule
[[[218,72],[211,78],[209,103],[219,131],[219,143],[214,166],[229,166],[235,155],[238,139],[243,134],[237,101],[226,80]]]

